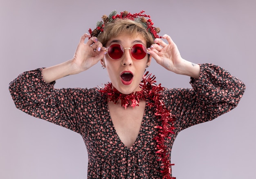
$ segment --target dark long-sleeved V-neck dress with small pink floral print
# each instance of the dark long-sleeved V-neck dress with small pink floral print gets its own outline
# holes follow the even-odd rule
[[[217,65],[200,64],[200,69],[199,79],[191,78],[193,88],[164,88],[161,93],[162,102],[177,118],[174,134],[166,140],[170,156],[181,130],[230,111],[245,91],[242,81]],[[152,105],[146,105],[137,140],[128,148],[118,137],[98,88],[55,89],[55,81],[45,83],[41,72],[24,72],[11,81],[13,101],[31,116],[81,134],[88,150],[88,179],[161,178],[154,140],[158,133],[155,126],[161,121],[156,120]]]

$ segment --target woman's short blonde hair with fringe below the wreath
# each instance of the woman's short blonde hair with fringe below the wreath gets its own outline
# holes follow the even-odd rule
[[[129,19],[116,19],[114,22],[108,22],[104,26],[104,31],[98,36],[98,40],[106,46],[112,37],[120,34],[129,34],[132,37],[141,35],[146,40],[146,47],[150,47],[154,43],[152,35],[139,22]]]

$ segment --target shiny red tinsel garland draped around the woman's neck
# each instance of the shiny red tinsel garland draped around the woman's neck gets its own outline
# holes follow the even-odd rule
[[[112,83],[105,84],[104,88],[101,88],[99,92],[102,95],[107,95],[110,101],[113,101],[115,104],[118,100],[121,100],[121,106],[127,108],[128,106],[139,106],[140,99],[151,99],[154,103],[148,103],[150,107],[155,107],[155,115],[159,120],[162,120],[162,126],[155,126],[158,129],[159,133],[154,138],[157,142],[155,148],[157,160],[161,162],[161,173],[162,179],[176,179],[176,177],[171,177],[171,164],[170,156],[167,152],[167,146],[165,144],[165,139],[170,138],[170,134],[174,134],[173,130],[174,125],[173,121],[175,117],[168,111],[162,103],[159,92],[163,90],[161,84],[155,85],[155,76],[150,77],[151,74],[146,74],[143,76],[143,79],[140,83],[141,91],[133,92],[131,94],[122,94],[115,87],[112,86]],[[131,102],[131,104],[130,104]]]

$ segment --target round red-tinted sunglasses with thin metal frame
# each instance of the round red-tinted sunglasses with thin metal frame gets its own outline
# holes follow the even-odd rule
[[[130,49],[132,57],[137,60],[144,59],[148,52],[147,48],[142,44],[134,44],[131,48],[124,48],[121,44],[112,44],[106,51],[111,59],[119,60],[123,57],[125,49]]]

